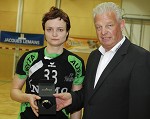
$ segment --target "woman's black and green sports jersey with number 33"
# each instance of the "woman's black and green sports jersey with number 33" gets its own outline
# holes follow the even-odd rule
[[[32,50],[22,55],[18,61],[16,73],[20,79],[26,79],[26,93],[39,93],[39,80],[49,80],[55,84],[55,92],[70,92],[72,85],[80,85],[83,82],[85,66],[82,58],[64,49],[63,53],[54,58],[46,56],[45,47]],[[30,104],[22,103],[20,119],[38,119]],[[56,116],[44,116],[40,119],[68,119],[69,114],[63,109]]]

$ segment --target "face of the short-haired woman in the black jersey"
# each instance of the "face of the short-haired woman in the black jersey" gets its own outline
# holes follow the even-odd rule
[[[59,47],[66,41],[68,32],[66,22],[63,19],[50,19],[45,23],[45,38],[48,45]]]

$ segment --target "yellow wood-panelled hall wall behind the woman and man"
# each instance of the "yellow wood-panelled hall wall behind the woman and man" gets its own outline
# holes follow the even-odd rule
[[[16,32],[19,0],[0,0],[0,30]],[[21,32],[43,34],[41,19],[57,0],[24,0]],[[106,0],[105,0],[106,1]],[[121,4],[120,0],[112,0]],[[60,8],[70,17],[70,37],[96,39],[92,19],[92,9],[102,0],[61,0]],[[45,43],[44,43],[45,45]],[[28,46],[0,43],[0,79],[12,79],[15,57],[20,57],[27,50],[42,46]],[[16,50],[17,49],[17,50]],[[89,53],[75,52],[85,63]]]

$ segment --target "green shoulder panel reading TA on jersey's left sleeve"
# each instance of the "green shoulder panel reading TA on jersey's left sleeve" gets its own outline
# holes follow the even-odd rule
[[[24,60],[23,63],[23,71],[26,73],[26,75],[29,74],[29,69],[32,65],[32,63],[38,58],[38,53],[37,52],[32,52],[29,53]]]

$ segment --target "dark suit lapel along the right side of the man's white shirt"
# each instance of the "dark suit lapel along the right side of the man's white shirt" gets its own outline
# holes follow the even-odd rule
[[[104,69],[103,73],[101,74],[101,76],[100,76],[100,78],[99,78],[99,80],[98,80],[98,82],[96,84],[95,89],[91,92],[90,98],[101,87],[101,85],[103,84],[104,80],[107,78],[108,75],[111,74],[112,70],[115,69],[115,67],[117,66],[117,64],[122,61],[122,59],[124,58],[125,54],[127,53],[127,49],[128,49],[128,46],[130,45],[130,43],[131,42],[129,40],[125,40],[125,42],[123,43],[123,45],[116,52],[116,54],[114,55],[114,57],[112,58],[112,60],[109,62],[109,64],[106,66],[106,68]],[[94,77],[94,79],[95,79],[95,77]],[[94,85],[94,83],[93,83],[93,85]]]

